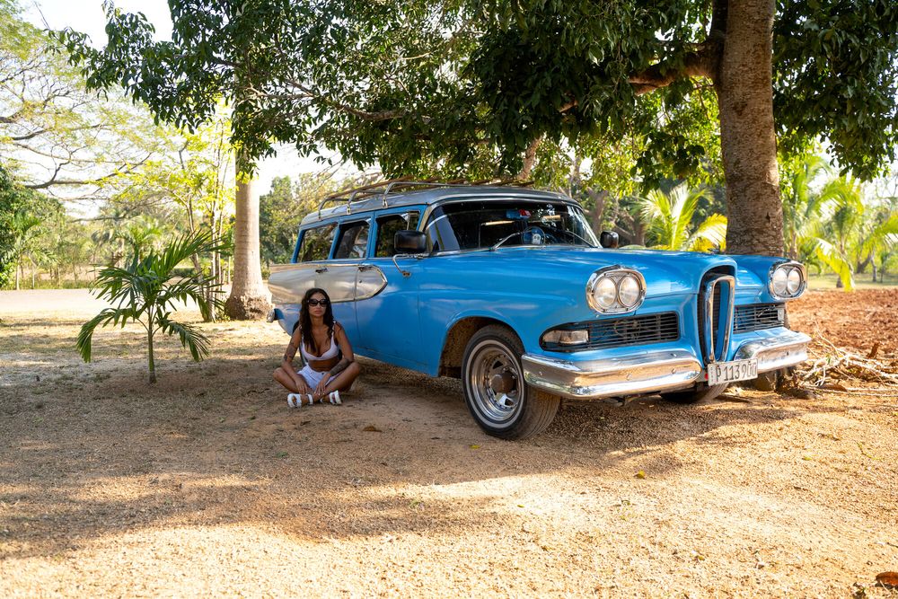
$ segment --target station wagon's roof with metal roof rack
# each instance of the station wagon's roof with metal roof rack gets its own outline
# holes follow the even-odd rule
[[[569,203],[577,203],[575,200],[554,191],[541,191],[539,189],[525,189],[519,186],[509,185],[465,185],[465,184],[436,184],[422,182],[419,185],[426,186],[423,189],[409,189],[403,184],[399,190],[365,189],[363,193],[344,192],[339,196],[330,196],[321,200],[318,209],[313,210],[303,219],[303,225],[317,223],[333,216],[345,216],[347,214],[361,214],[383,208],[420,206],[435,204],[450,198],[533,198],[561,200]],[[339,202],[337,206],[325,207],[328,203]]]

